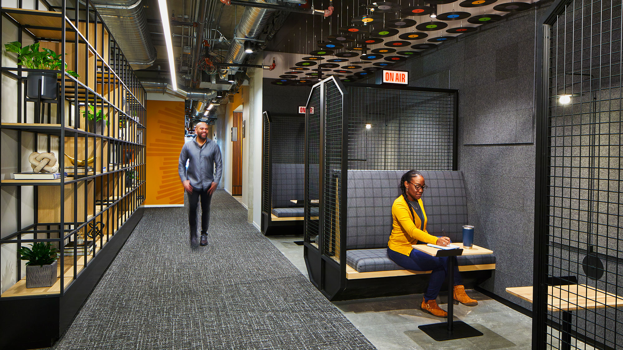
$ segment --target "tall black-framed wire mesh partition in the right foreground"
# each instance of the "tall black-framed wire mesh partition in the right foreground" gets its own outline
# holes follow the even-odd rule
[[[543,26],[534,348],[621,348],[621,1],[559,1]]]

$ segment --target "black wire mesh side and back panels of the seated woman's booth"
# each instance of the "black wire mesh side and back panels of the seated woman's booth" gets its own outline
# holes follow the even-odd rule
[[[335,78],[313,87],[306,120],[305,254],[310,278],[325,295],[345,284],[346,209],[354,205],[346,201],[349,171],[454,170],[456,102],[456,90],[344,86]],[[371,214],[366,225],[378,224],[375,215],[384,213]]]

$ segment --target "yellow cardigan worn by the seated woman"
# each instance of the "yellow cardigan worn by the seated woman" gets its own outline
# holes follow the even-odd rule
[[[415,212],[413,214],[416,222],[415,224],[413,223],[409,204],[404,200],[404,197],[397,197],[391,206],[391,215],[394,223],[389,236],[388,246],[394,252],[408,256],[411,254],[411,250],[413,250],[411,245],[417,244],[418,240],[432,244],[437,243],[437,237],[429,235],[426,230],[427,218],[422,199],[418,199],[417,202],[422,208],[422,214],[424,214],[424,224],[422,224],[420,217]]]

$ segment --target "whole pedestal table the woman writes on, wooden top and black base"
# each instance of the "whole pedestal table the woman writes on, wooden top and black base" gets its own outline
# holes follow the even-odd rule
[[[424,324],[418,326],[430,338],[436,341],[444,341],[450,339],[470,338],[482,336],[478,329],[473,328],[463,321],[454,322],[454,258],[458,255],[482,255],[493,254],[492,250],[472,245],[471,249],[465,249],[461,243],[453,243],[458,245],[458,249],[439,249],[429,247],[426,244],[414,244],[413,248],[427,253],[433,257],[449,257],[448,259],[448,320],[442,323]]]

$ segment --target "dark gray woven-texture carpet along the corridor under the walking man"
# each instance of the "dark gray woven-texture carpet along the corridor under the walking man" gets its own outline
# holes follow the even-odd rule
[[[225,191],[207,247],[187,210],[145,210],[54,349],[374,349]]]

